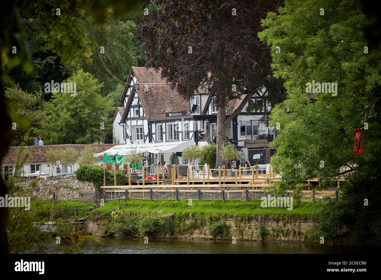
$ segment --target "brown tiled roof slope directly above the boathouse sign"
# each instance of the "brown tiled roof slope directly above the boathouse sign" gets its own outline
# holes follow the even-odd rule
[[[137,91],[147,119],[165,118],[166,112],[186,111],[189,114],[189,101],[184,100],[171,85],[150,84],[148,90]]]

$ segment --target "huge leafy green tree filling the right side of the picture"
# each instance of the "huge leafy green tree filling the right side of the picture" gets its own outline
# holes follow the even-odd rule
[[[286,80],[288,94],[271,112],[270,124],[279,128],[271,142],[278,147],[271,164],[282,173],[278,190],[295,189],[316,176],[320,187],[335,186],[332,180],[345,176],[344,202],[327,207],[320,227],[327,235],[319,236],[331,236],[329,220],[336,232],[351,229],[356,243],[379,245],[381,53],[367,47],[365,30],[376,19],[361,6],[355,0],[286,1],[279,15],[267,15],[259,37],[271,45],[275,76]],[[368,197],[372,205],[365,206]]]

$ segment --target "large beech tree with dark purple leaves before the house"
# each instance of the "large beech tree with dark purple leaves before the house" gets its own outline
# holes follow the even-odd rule
[[[221,166],[219,151],[227,126],[250,96],[265,86],[268,102],[282,100],[282,83],[272,77],[270,48],[258,39],[261,19],[282,1],[153,2],[158,10],[138,25],[138,38],[145,39],[146,66],[162,68],[162,78],[185,99],[192,98],[200,86],[213,94],[218,107],[216,166]],[[237,98],[243,102],[226,118],[226,103]]]

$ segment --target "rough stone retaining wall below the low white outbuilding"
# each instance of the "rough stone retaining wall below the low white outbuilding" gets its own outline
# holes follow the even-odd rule
[[[72,177],[55,177],[45,179],[19,179],[16,186],[22,189],[32,189],[32,182],[37,181],[35,186],[35,199],[51,200],[53,192],[57,200],[78,200],[80,192],[93,192],[93,182],[79,181]]]

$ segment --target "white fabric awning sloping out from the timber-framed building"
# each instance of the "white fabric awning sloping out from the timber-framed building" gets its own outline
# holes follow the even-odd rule
[[[160,142],[160,143],[144,143],[144,144],[123,144],[114,146],[99,154],[94,154],[96,157],[100,155],[126,155],[131,149],[136,148],[136,151],[144,153],[149,152],[152,154],[158,153],[174,153],[182,152],[188,146],[195,145],[193,140],[187,141],[174,141],[174,142]]]

